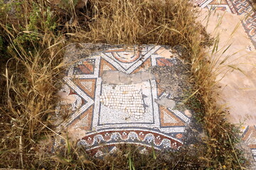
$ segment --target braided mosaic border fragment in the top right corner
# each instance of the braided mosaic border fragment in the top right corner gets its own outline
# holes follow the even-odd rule
[[[256,11],[250,0],[192,0],[202,8],[222,10],[236,15],[245,14],[242,26],[256,48]]]

